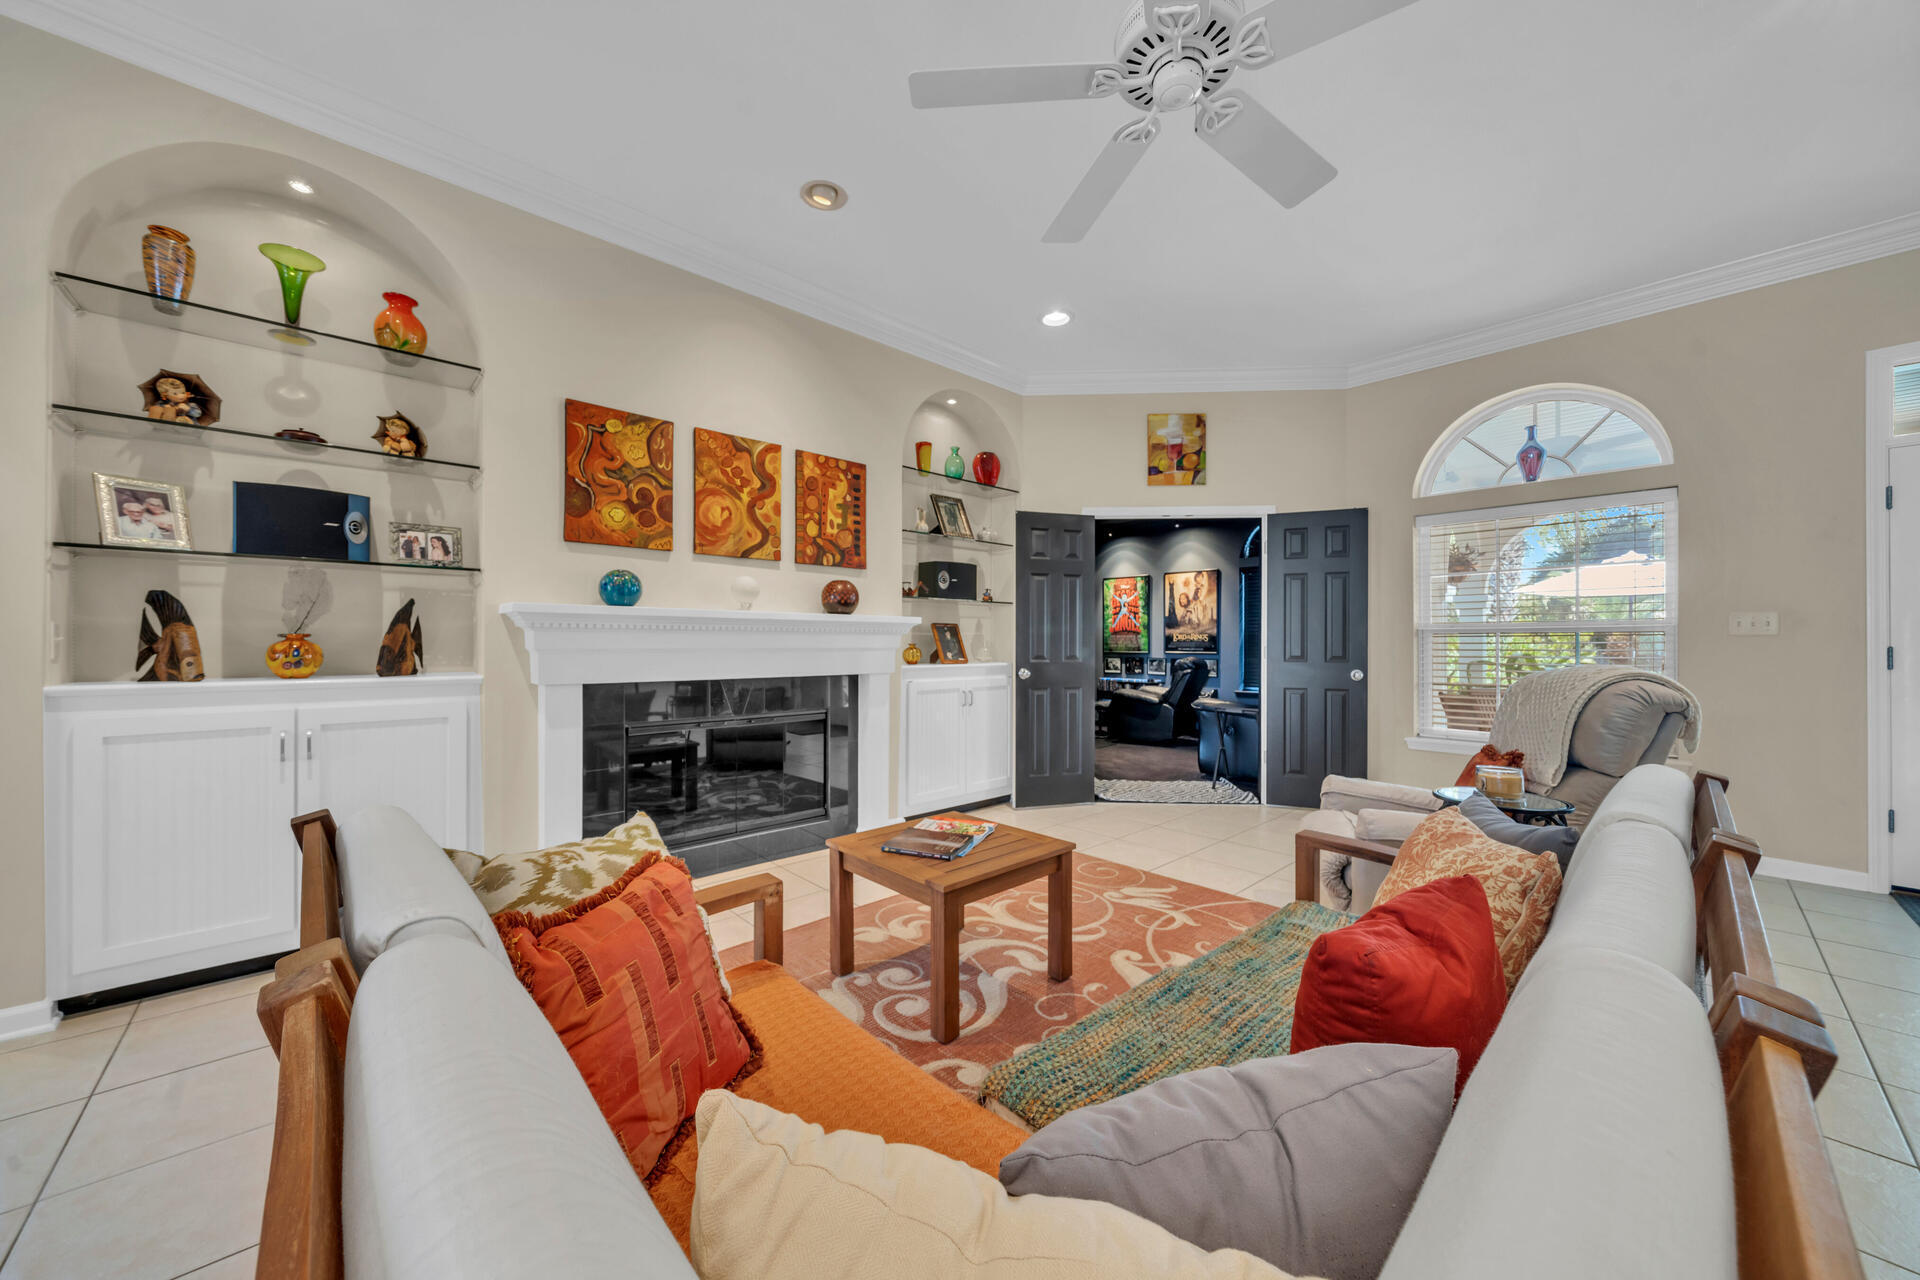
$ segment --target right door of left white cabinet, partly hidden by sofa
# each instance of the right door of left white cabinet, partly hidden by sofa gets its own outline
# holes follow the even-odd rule
[[[394,804],[440,844],[470,848],[467,716],[463,699],[301,710],[300,810]]]

